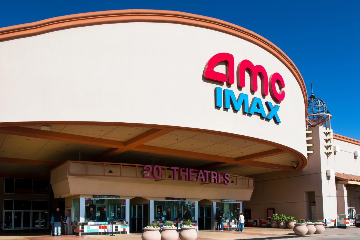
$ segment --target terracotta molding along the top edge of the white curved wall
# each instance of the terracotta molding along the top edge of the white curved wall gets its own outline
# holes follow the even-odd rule
[[[162,22],[203,27],[239,37],[241,39],[252,42],[257,46],[262,47],[269,53],[273,54],[277,59],[279,59],[280,62],[282,62],[294,75],[303,94],[306,116],[306,86],[299,70],[292,62],[292,60],[282,50],[280,50],[279,47],[277,47],[275,44],[265,39],[264,37],[256,34],[255,32],[252,32],[250,30],[247,30],[246,28],[237,26],[232,23],[221,21],[216,18],[210,18],[202,15],[184,12],[147,9],[111,10],[101,12],[79,13],[49,18],[33,23],[25,23],[0,28],[0,41],[16,39],[19,37],[34,36],[46,32],[58,31],[67,28],[124,22]]]

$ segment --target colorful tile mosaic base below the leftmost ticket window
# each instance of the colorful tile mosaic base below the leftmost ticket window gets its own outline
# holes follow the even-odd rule
[[[79,236],[126,234],[127,222],[77,222],[73,225],[73,233]]]

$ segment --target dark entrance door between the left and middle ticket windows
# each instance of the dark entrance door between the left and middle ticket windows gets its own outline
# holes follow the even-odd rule
[[[142,232],[148,221],[148,204],[130,206],[130,232]]]

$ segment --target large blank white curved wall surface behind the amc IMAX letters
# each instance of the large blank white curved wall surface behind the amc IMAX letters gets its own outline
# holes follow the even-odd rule
[[[214,108],[202,80],[217,53],[279,72],[286,96],[275,124]],[[248,76],[247,76],[248,77]],[[236,80],[235,80],[236,81]],[[272,54],[246,40],[171,23],[78,27],[0,42],[0,122],[100,121],[162,124],[236,133],[289,146],[306,155],[300,86]],[[252,95],[249,80],[242,93]],[[225,85],[222,89],[227,88]],[[231,88],[240,93],[236,84]],[[263,100],[270,101],[270,94]]]

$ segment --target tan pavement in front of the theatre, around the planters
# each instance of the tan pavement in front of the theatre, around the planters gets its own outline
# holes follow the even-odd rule
[[[49,236],[41,233],[28,232],[22,234],[22,232],[6,232],[2,231],[0,234],[0,240],[140,240],[141,233],[138,234],[121,234],[116,236],[74,236],[74,235],[62,235],[62,236]],[[295,235],[292,229],[280,229],[280,228],[257,228],[247,227],[244,232],[235,231],[198,231],[197,240],[276,240],[276,239],[301,239],[301,240],[360,240],[360,228],[350,229],[326,229],[323,234],[314,235]]]

